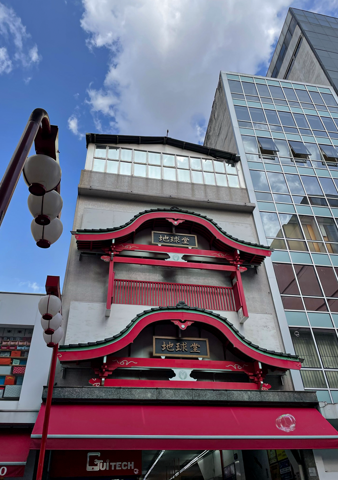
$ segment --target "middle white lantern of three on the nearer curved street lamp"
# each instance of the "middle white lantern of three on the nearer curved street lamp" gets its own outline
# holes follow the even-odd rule
[[[28,196],[28,208],[38,225],[49,225],[51,220],[57,217],[62,209],[61,196],[52,190],[43,196],[32,193]]]

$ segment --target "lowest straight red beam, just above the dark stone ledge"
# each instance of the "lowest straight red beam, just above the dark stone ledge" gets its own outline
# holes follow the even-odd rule
[[[259,390],[257,384],[241,382],[186,382],[182,380],[118,380],[105,379],[104,386],[124,386],[127,388],[193,388],[212,390]],[[271,385],[264,384],[261,390],[269,390]]]

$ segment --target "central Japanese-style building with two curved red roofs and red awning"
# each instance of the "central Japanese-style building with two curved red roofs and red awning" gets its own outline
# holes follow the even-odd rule
[[[235,137],[86,138],[49,477],[318,479],[338,433],[282,332]]]

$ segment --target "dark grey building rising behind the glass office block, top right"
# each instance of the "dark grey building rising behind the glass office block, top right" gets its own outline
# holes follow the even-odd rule
[[[338,19],[289,8],[267,77],[331,85],[338,93]]]

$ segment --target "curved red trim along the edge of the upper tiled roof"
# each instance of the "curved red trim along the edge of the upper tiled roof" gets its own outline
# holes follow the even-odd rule
[[[230,246],[231,248],[238,249],[243,252],[252,253],[254,255],[261,255],[264,257],[269,257],[272,253],[271,250],[262,249],[260,247],[250,247],[248,245],[244,245],[239,243],[235,240],[229,239],[226,235],[222,234],[212,223],[208,222],[204,218],[190,215],[188,213],[182,212],[150,212],[145,213],[141,217],[138,217],[132,224],[128,225],[127,227],[121,228],[120,230],[114,232],[107,232],[107,233],[74,233],[76,240],[80,241],[95,241],[95,240],[111,240],[111,239],[118,239],[123,237],[127,234],[135,232],[137,228],[139,228],[143,223],[148,220],[156,219],[156,218],[173,218],[173,219],[182,219],[182,220],[189,220],[194,223],[198,223],[199,225],[203,225],[207,228],[218,240],[222,241],[224,244]]]

